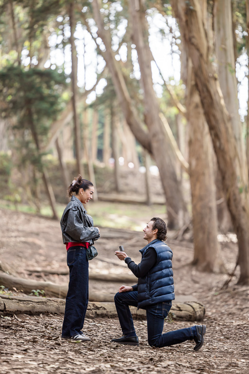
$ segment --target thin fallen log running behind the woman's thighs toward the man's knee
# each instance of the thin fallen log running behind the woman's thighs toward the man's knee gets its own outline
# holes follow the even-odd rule
[[[48,270],[48,269],[27,269],[29,273],[44,273],[44,274],[57,274],[57,275],[68,275],[69,270]],[[131,282],[137,283],[137,278],[132,274],[103,274],[103,273],[92,273],[89,271],[89,279],[94,281],[105,281],[105,282]]]

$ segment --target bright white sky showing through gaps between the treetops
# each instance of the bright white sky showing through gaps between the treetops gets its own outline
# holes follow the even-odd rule
[[[116,3],[116,10],[120,6],[119,3]],[[112,16],[111,16],[112,17]],[[57,18],[58,21],[62,21],[62,17]],[[148,17],[149,22],[149,44],[152,51],[152,54],[155,58],[156,63],[160,67],[160,71],[166,81],[170,80],[172,85],[178,84],[180,80],[180,58],[177,45],[171,45],[172,34],[169,31],[169,27],[165,22],[165,19],[160,14],[152,14]],[[97,28],[94,24],[94,20],[90,19],[89,23],[91,25],[91,30],[95,33]],[[168,24],[172,27],[173,30],[176,30],[176,21],[172,17],[168,17]],[[119,25],[116,35],[113,37],[113,50],[118,49],[120,40],[125,34],[125,28],[127,26],[127,21],[124,19]],[[164,30],[167,37],[162,36],[160,29]],[[70,37],[70,27],[64,27],[64,36]],[[178,37],[179,33],[176,31],[175,36]],[[76,40],[76,49],[78,55],[78,86],[86,90],[90,90],[96,83],[97,73],[101,73],[105,67],[105,60],[102,56],[97,55],[96,45],[94,40],[84,26],[78,24],[74,34]],[[63,66],[65,73],[70,75],[71,73],[71,47],[68,45],[63,50],[62,44],[63,32],[61,35],[56,35],[55,33],[49,38],[49,44],[51,46],[51,58],[45,63],[45,67],[48,68],[51,66],[52,69],[55,69],[56,66]],[[104,49],[104,45],[100,38],[97,38],[97,42],[101,49]],[[177,44],[180,42],[177,39]],[[59,48],[54,48],[55,45],[59,45]],[[132,46],[132,62],[133,62],[133,74],[131,77],[140,79],[140,69],[138,64],[137,52],[135,45]],[[173,51],[172,51],[173,49]],[[121,46],[117,52],[116,59],[126,61],[127,48],[125,43]],[[238,86],[238,97],[240,104],[240,115],[242,120],[247,114],[247,100],[248,100],[248,61],[247,55],[244,54],[240,56],[239,62],[236,64],[236,76],[240,82]],[[158,72],[158,68],[155,63],[152,63],[152,77],[154,82],[154,88],[157,95],[160,97],[162,93],[161,84],[162,79]],[[87,103],[90,103],[95,100],[96,94],[101,94],[107,82],[105,79],[101,79],[94,92],[90,93],[87,98]]]

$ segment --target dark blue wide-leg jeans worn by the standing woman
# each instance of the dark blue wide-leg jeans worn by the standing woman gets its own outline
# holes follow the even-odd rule
[[[81,333],[88,307],[88,267],[86,248],[71,247],[67,253],[69,286],[66,298],[62,337],[73,337]]]

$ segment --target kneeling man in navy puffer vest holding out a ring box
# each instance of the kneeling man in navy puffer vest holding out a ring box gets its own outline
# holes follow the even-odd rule
[[[143,239],[147,240],[148,244],[140,250],[142,260],[138,265],[125,252],[115,252],[120,260],[125,260],[128,268],[138,278],[138,283],[132,287],[121,286],[114,297],[123,335],[111,341],[139,345],[129,309],[129,305],[132,305],[146,310],[150,346],[160,348],[194,340],[194,351],[198,351],[203,345],[206,325],[195,325],[162,334],[164,318],[167,317],[172,300],[175,299],[173,253],[164,243],[167,238],[167,227],[162,219],[152,218],[143,232]]]

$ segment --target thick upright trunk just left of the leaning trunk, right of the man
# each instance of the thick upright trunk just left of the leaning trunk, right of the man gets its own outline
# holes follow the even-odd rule
[[[190,62],[191,63],[191,62]],[[193,82],[193,75],[191,74]],[[213,145],[195,83],[188,93],[189,174],[192,194],[194,260],[199,271],[225,271],[217,241]]]

